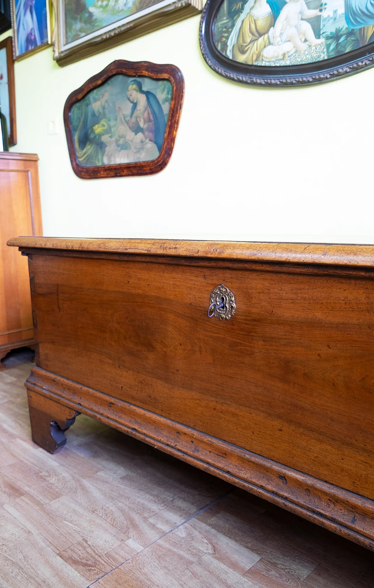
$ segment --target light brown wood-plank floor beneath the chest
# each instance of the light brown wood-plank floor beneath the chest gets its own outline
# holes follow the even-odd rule
[[[95,420],[34,445],[0,372],[1,588],[374,588],[374,554]]]

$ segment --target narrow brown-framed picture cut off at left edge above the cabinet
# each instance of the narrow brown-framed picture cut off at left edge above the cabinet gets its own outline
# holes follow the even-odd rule
[[[9,145],[17,142],[12,37],[0,42],[0,105],[8,127]]]

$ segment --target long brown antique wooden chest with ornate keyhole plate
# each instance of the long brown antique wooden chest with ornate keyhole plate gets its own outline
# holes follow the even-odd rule
[[[374,550],[374,247],[8,245],[29,258],[36,443],[84,413]]]

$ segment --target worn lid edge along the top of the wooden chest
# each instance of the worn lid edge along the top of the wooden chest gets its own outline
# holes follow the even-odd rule
[[[265,243],[241,241],[189,241],[172,239],[70,239],[58,237],[8,240],[22,249],[56,249],[97,253],[128,253],[191,257],[194,259],[232,259],[304,265],[337,265],[349,268],[374,267],[373,245],[336,245],[335,243]]]

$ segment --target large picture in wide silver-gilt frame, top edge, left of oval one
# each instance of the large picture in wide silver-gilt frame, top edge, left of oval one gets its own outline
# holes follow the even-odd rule
[[[67,65],[199,14],[202,0],[52,0],[54,58]]]

